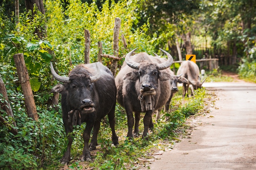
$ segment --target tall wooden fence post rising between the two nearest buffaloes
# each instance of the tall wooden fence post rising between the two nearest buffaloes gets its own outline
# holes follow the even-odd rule
[[[121,28],[121,19],[115,18],[114,35],[113,35],[113,50],[114,50],[114,56],[116,56],[116,57],[119,57],[118,43],[119,43],[120,28]],[[111,68],[110,68],[110,70],[114,76],[116,75],[117,62],[118,62],[118,60],[113,60]]]

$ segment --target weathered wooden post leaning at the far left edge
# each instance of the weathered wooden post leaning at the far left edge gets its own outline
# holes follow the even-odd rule
[[[6,91],[6,88],[4,86],[4,82],[2,80],[1,75],[0,75],[0,93],[3,95],[3,99],[4,99],[3,103],[0,102],[1,109],[4,110],[7,113],[8,116],[14,118],[13,112],[11,110],[11,105],[8,102],[7,91]],[[13,126],[16,127],[16,122],[15,121],[13,121],[12,124],[13,124]]]

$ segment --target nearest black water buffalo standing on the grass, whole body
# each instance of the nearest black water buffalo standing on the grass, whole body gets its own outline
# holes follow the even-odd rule
[[[106,115],[108,115],[112,130],[112,142],[114,145],[118,145],[118,137],[115,133],[117,89],[115,78],[110,70],[100,62],[80,64],[72,69],[69,77],[61,77],[54,71],[51,63],[51,72],[55,79],[64,83],[54,86],[52,92],[62,94],[62,118],[66,135],[73,131],[72,125],[86,122],[83,132],[84,148],[81,161],[92,160],[90,150],[96,149],[100,121]],[[92,140],[88,144],[92,127]],[[72,141],[72,136],[68,135],[67,151],[61,159],[62,164],[67,164],[70,161]]]

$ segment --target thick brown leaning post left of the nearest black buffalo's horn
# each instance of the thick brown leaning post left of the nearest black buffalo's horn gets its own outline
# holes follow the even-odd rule
[[[32,89],[30,86],[29,75],[28,75],[27,67],[24,61],[24,56],[22,53],[18,53],[18,54],[15,54],[13,58],[17,68],[20,85],[25,97],[25,106],[27,109],[27,115],[31,117],[33,120],[37,120],[38,115],[36,112],[36,104],[35,104],[34,95],[32,93]]]

